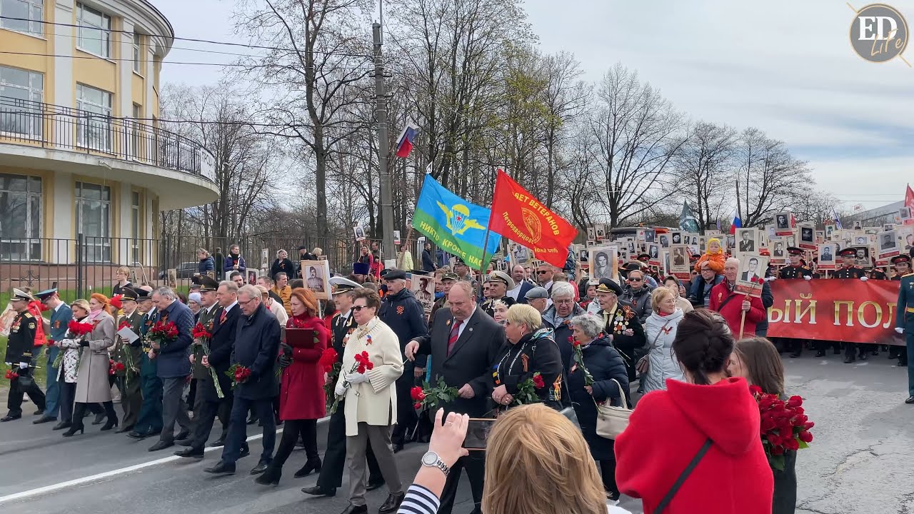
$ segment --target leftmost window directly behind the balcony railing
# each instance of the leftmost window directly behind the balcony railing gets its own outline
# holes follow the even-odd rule
[[[41,73],[0,66],[0,133],[41,137],[43,89]]]

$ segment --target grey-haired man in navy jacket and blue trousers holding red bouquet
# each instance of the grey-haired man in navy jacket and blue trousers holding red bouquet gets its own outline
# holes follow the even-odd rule
[[[187,416],[187,405],[181,397],[184,382],[190,374],[190,361],[187,360],[187,349],[194,342],[191,330],[194,328],[194,313],[190,307],[176,300],[175,292],[168,287],[159,287],[153,292],[153,305],[156,307],[155,322],[174,323],[177,337],[174,340],[153,342],[149,350],[149,359],[157,359],[156,375],[162,380],[162,433],[159,441],[153,444],[150,452],[165,449],[175,444],[175,422],[181,426],[177,439],[186,439],[190,435],[190,417]]]

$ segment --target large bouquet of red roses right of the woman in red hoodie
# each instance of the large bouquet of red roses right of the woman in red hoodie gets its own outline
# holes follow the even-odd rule
[[[799,396],[784,402],[777,394],[762,392],[759,386],[749,386],[749,391],[759,403],[761,445],[768,464],[772,469],[783,471],[784,452],[808,448],[813,442],[809,429],[815,423],[804,413]]]

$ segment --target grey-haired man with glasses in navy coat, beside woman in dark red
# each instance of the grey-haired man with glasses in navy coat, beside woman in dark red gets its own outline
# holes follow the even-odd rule
[[[250,369],[250,377],[235,385],[235,399],[228,419],[228,437],[222,449],[222,459],[204,471],[215,475],[233,475],[235,461],[242,454],[248,438],[248,411],[253,409],[263,426],[263,453],[251,475],[263,473],[270,466],[276,444],[276,420],[272,398],[276,395],[274,370],[280,348],[280,324],[260,301],[260,290],[253,285],[239,289],[238,305],[241,318],[236,327],[232,362]]]

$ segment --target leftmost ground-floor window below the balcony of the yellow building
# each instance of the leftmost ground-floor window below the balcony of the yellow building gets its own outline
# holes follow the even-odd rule
[[[41,259],[41,178],[0,173],[0,260]]]

